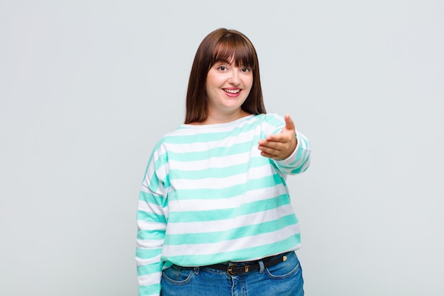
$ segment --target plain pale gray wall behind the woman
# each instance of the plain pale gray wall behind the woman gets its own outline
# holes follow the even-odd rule
[[[290,177],[306,295],[444,295],[443,1],[0,1],[0,295],[136,295],[135,209],[194,53],[235,28]]]

